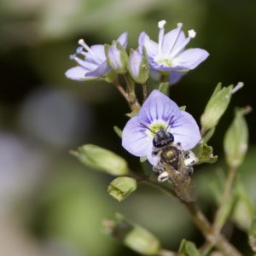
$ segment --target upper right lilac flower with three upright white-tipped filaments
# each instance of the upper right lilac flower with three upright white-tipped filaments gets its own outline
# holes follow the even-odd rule
[[[177,28],[166,33],[164,26],[166,20],[159,22],[159,43],[150,40],[145,32],[139,36],[139,50],[142,52],[142,45],[147,49],[150,66],[160,72],[169,73],[177,70],[190,70],[197,67],[201,61],[205,61],[209,55],[205,49],[186,49],[190,38],[195,37],[195,31],[189,31],[189,37],[185,38],[181,30],[183,24],[178,23]]]

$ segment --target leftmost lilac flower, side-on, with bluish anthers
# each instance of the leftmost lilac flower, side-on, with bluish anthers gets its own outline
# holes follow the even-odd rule
[[[119,41],[119,43],[122,44],[124,48],[126,48],[127,32],[121,34],[117,41]],[[83,39],[79,40],[79,44],[81,46],[77,49],[77,52],[74,55],[70,55],[70,58],[77,61],[80,66],[67,70],[65,73],[67,78],[78,81],[99,78],[108,79],[112,73],[112,70],[108,66],[104,45],[96,44],[89,47],[84,43]],[[113,43],[113,47],[116,47],[116,42]],[[87,51],[83,51],[83,49],[86,49]],[[78,54],[85,56],[84,61],[77,57]]]

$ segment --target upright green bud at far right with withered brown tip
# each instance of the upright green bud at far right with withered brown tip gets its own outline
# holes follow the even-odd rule
[[[224,136],[224,152],[226,161],[231,167],[241,165],[248,146],[248,128],[244,114],[251,108],[236,108],[235,119]]]

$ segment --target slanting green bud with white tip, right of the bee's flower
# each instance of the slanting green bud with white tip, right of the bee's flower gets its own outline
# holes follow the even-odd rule
[[[201,116],[202,129],[207,131],[218,124],[218,120],[228,108],[232,90],[233,85],[221,89],[221,83],[218,83]]]

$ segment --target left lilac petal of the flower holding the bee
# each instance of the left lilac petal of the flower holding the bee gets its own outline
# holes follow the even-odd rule
[[[123,130],[122,146],[136,156],[147,155],[148,148],[153,146],[152,140],[143,131],[146,128],[140,125],[137,116],[131,118]]]

